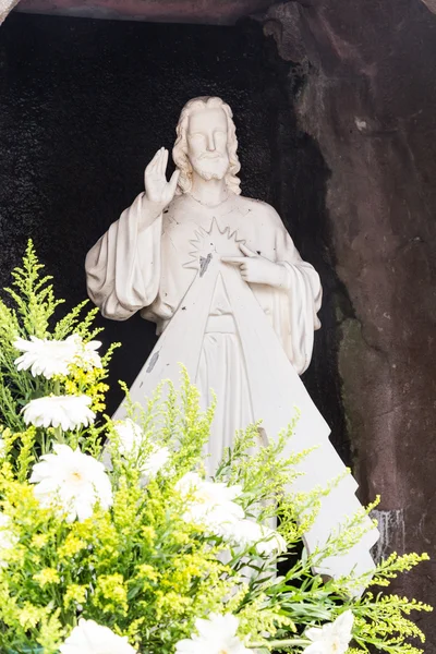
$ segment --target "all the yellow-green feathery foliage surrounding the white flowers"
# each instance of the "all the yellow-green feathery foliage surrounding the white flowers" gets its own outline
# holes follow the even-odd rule
[[[72,365],[68,376],[51,380],[16,371],[17,336],[64,339],[75,332],[86,341],[96,335],[95,312],[81,318],[84,303],[51,326],[60,302],[50,278],[40,278],[39,270],[29,243],[9,290],[15,308],[0,302],[0,516],[9,520],[0,523],[1,652],[24,654],[39,646],[45,654],[56,654],[84,617],[126,635],[142,654],[172,654],[175,643],[192,634],[195,619],[215,611],[239,617],[239,637],[246,646],[298,654],[310,644],[308,627],[322,627],[347,609],[354,616],[348,654],[372,646],[388,654],[422,652],[410,644],[410,638],[425,640],[410,616],[431,607],[385,594],[384,588],[426,560],[425,554],[393,554],[372,576],[325,581],[313,571],[361,538],[374,505],[350,517],[324,548],[308,555],[304,533],[338,480],[328,488],[292,493],[292,481],[301,474],[295,467],[308,453],[283,457],[293,425],[263,448],[257,445],[261,425],[238,434],[215,477],[241,486],[235,501],[253,521],[278,523],[287,554],[263,556],[254,545],[232,547],[186,519],[177,482],[191,471],[204,474],[214,407],[201,410],[198,391],[184,372],[180,391],[162,383],[145,407],[128,401],[129,414],[142,429],[138,449],[122,449],[117,424],[107,416],[61,434],[62,443],[73,449],[80,447],[97,459],[110,456],[110,509],[97,505],[92,517],[68,521],[56,506],[43,508],[29,479],[41,450],[51,451],[59,433],[52,427],[26,428],[20,411],[29,399],[55,390],[88,395],[93,408],[101,411],[112,349],[102,368]],[[157,447],[169,449],[169,460],[144,483],[141,469]],[[13,547],[1,545],[5,535],[13,537]],[[278,565],[286,570],[279,577]],[[360,595],[358,589],[367,590]]]

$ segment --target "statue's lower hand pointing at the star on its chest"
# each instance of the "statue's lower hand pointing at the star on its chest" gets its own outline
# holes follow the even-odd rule
[[[244,256],[222,256],[221,262],[239,266],[244,281],[286,288],[287,270],[283,266],[270,262],[246,245],[241,244],[240,250]]]

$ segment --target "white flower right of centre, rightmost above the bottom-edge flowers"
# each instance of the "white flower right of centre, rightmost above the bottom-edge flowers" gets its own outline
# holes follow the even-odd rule
[[[263,556],[281,554],[287,550],[283,536],[269,526],[258,524],[253,520],[225,523],[220,535],[242,549],[255,545],[256,552]]]

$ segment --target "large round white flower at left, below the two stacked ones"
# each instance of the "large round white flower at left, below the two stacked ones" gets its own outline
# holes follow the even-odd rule
[[[70,522],[89,518],[97,502],[108,509],[112,488],[105,465],[68,445],[53,445],[53,450],[33,467],[29,480],[41,506],[60,507]]]

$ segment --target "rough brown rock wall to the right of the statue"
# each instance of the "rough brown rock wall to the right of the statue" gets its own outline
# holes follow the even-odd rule
[[[308,82],[299,124],[330,170],[327,221],[346,302],[339,372],[379,552],[427,550],[401,590],[436,604],[436,16],[410,0],[270,9],[265,29]],[[435,618],[419,618],[436,652]]]

